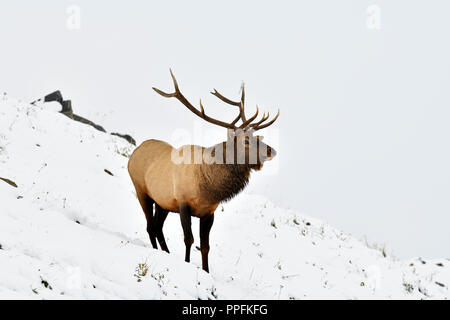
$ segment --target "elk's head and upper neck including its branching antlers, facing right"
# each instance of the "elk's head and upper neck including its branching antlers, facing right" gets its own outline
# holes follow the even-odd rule
[[[227,141],[225,143],[216,145],[216,148],[213,151],[213,157],[215,157],[216,162],[223,163],[223,161],[225,161],[226,164],[249,165],[252,169],[260,170],[265,161],[270,161],[275,157],[275,149],[262,141],[263,136],[254,135],[254,133],[258,130],[267,128],[268,126],[272,125],[280,116],[280,110],[278,110],[277,115],[272,120],[267,122],[270,116],[269,113],[267,113],[267,115],[266,113],[264,113],[260,120],[256,120],[259,114],[259,108],[258,106],[256,106],[255,114],[247,119],[245,115],[244,85],[242,85],[242,95],[240,101],[238,102],[224,97],[216,89],[214,89],[211,94],[213,94],[223,102],[239,108],[239,114],[232,122],[217,120],[206,115],[201,100],[200,110],[194,107],[181,93],[172,70],[170,70],[170,75],[172,76],[175,92],[166,93],[154,87],[153,90],[155,90],[163,97],[178,99],[198,117],[209,123],[224,127],[228,130]],[[237,124],[239,121],[241,121],[240,125]],[[223,148],[223,150],[218,150],[218,148]]]

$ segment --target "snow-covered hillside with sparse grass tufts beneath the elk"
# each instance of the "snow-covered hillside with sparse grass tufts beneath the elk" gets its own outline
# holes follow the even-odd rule
[[[449,297],[450,261],[395,261],[245,193],[218,208],[210,274],[196,249],[184,262],[177,214],[164,229],[171,254],[153,250],[126,170],[132,148],[44,106],[0,98],[0,177],[17,184],[0,180],[0,298]],[[193,227],[197,235],[197,219]]]

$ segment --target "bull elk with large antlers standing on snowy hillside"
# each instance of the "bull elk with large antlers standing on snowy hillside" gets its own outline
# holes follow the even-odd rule
[[[239,114],[232,122],[217,120],[205,114],[201,100],[200,110],[194,107],[181,93],[172,70],[170,74],[174,93],[165,93],[157,88],[153,90],[163,97],[178,99],[195,115],[226,128],[227,141],[209,148],[185,145],[175,149],[164,141],[147,140],[131,155],[128,172],[147,219],[147,232],[153,248],[158,248],[158,240],[161,250],[169,253],[163,225],[168,212],[179,213],[186,246],[185,261],[189,262],[194,242],[191,217],[198,217],[202,267],[209,272],[209,233],[214,212],[221,202],[233,198],[245,188],[252,170],[261,170],[265,161],[275,157],[276,151],[262,142],[262,136],[253,136],[253,133],[272,125],[278,119],[280,110],[269,122],[269,114],[265,113],[256,121],[259,113],[256,106],[256,113],[247,119],[244,86],[239,102],[224,97],[214,89],[211,93],[217,98],[239,107]],[[239,121],[242,123],[238,126]]]

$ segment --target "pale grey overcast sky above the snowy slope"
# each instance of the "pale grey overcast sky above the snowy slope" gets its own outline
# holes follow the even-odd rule
[[[231,120],[209,92],[237,99],[244,81],[249,114],[281,109],[261,132],[277,161],[249,191],[398,257],[449,258],[449,15],[445,0],[1,1],[0,90],[59,89],[139,142],[212,145],[225,130],[151,87],[172,90],[171,67]]]

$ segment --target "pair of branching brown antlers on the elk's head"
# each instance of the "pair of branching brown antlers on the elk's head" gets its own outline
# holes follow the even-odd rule
[[[241,95],[241,101],[240,102],[235,102],[235,101],[232,101],[232,100],[224,97],[216,89],[214,89],[214,92],[211,92],[213,95],[218,97],[223,102],[239,107],[239,115],[230,123],[214,119],[214,118],[209,117],[209,116],[207,116],[205,114],[205,109],[203,107],[202,100],[200,100],[200,110],[198,110],[196,107],[194,107],[184,97],[184,95],[181,93],[181,91],[180,91],[180,89],[178,87],[178,82],[175,79],[175,76],[173,75],[172,69],[170,69],[170,75],[172,76],[173,84],[174,84],[174,87],[175,87],[175,92],[174,93],[166,93],[166,92],[161,91],[161,90],[159,90],[159,89],[157,89],[155,87],[153,87],[153,90],[155,90],[157,93],[159,93],[163,97],[166,97],[166,98],[177,98],[182,104],[184,104],[194,114],[196,114],[200,118],[202,118],[202,119],[204,119],[204,120],[206,120],[206,121],[208,121],[208,122],[210,122],[212,124],[216,124],[218,126],[221,126],[221,127],[224,127],[224,128],[228,128],[228,129],[232,129],[232,130],[242,129],[242,130],[245,131],[245,130],[247,130],[249,128],[252,128],[254,131],[256,131],[256,130],[260,130],[260,129],[263,129],[263,128],[267,128],[272,123],[274,123],[277,120],[278,116],[280,115],[280,110],[278,110],[277,116],[272,121],[262,125],[262,123],[264,123],[269,118],[269,114],[267,114],[267,116],[266,116],[265,113],[264,113],[263,118],[260,121],[252,124],[252,121],[254,121],[258,117],[259,108],[258,108],[258,106],[256,106],[255,114],[252,117],[250,117],[249,119],[246,119],[246,117],[245,117],[245,110],[244,110],[245,88],[244,88],[244,84],[242,84],[242,88],[241,88],[242,95]],[[242,120],[242,124],[238,127],[238,126],[236,126],[236,123],[239,122],[239,120]]]

